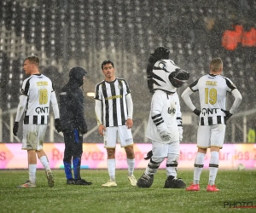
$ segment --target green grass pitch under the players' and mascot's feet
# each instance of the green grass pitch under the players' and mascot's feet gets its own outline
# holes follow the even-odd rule
[[[137,179],[144,170],[135,170]],[[36,188],[16,188],[28,179],[27,170],[0,170],[0,212],[256,212],[255,170],[218,170],[218,193],[206,192],[208,170],[201,175],[201,191],[163,188],[166,171],[158,170],[150,188],[131,187],[127,170],[116,170],[118,187],[105,188],[108,170],[82,170],[91,186],[67,185],[64,170],[53,170],[55,187],[48,187],[44,170],[37,171]],[[178,170],[189,186],[193,170]],[[231,207],[231,208],[230,208]]]

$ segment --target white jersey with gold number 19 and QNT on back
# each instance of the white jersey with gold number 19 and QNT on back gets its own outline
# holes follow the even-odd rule
[[[193,92],[199,91],[201,114],[199,125],[225,124],[226,94],[236,89],[229,78],[207,74],[189,85]]]

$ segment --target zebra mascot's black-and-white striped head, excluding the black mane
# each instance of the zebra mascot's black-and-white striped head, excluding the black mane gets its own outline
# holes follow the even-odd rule
[[[172,60],[158,60],[154,64],[151,77],[154,90],[175,93],[177,88],[189,80],[189,72],[182,70]]]

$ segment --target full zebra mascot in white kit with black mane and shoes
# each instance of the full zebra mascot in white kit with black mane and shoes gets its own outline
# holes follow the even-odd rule
[[[186,184],[177,178],[179,143],[183,138],[183,125],[177,88],[189,79],[189,72],[169,59],[169,50],[163,47],[150,55],[147,67],[148,89],[153,94],[146,136],[152,141],[148,167],[137,181],[137,187],[151,187],[154,174],[166,160],[165,188],[183,188]]]

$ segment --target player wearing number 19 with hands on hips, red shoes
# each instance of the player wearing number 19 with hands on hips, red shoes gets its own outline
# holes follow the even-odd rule
[[[197,131],[198,152],[194,164],[194,181],[190,187],[186,188],[187,191],[200,190],[199,181],[207,148],[210,148],[211,151],[207,191],[219,191],[215,186],[219,161],[218,152],[224,144],[226,121],[236,112],[241,103],[241,94],[236,85],[229,78],[221,76],[222,70],[223,61],[220,58],[212,59],[210,73],[195,80],[182,94],[183,101],[200,118]],[[190,99],[190,95],[197,91],[200,96],[200,110]],[[235,97],[230,111],[227,111],[225,106],[227,92]]]

